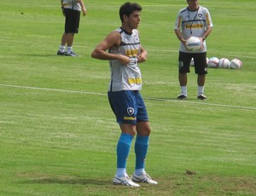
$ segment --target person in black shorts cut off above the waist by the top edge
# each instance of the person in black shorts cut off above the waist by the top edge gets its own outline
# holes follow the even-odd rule
[[[65,32],[61,37],[61,46],[57,55],[78,56],[73,52],[74,34],[79,33],[80,12],[87,13],[83,0],[61,0],[62,13],[65,16]],[[67,51],[65,46],[67,44]]]

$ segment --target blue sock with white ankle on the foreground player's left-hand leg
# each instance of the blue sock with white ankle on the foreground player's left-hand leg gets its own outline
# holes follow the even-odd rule
[[[126,173],[126,162],[131,148],[133,136],[122,133],[117,145],[117,177],[122,177]]]

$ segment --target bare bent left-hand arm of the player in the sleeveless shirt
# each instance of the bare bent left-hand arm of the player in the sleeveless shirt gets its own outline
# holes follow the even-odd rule
[[[110,49],[114,45],[120,44],[120,33],[111,32],[96,48],[92,51],[91,57],[98,60],[119,60],[122,64],[127,65],[130,58],[125,55],[110,54],[106,50]]]

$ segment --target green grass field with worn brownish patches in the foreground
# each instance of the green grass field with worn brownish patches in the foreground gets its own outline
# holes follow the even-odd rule
[[[108,61],[92,49],[120,26],[123,1],[84,1],[74,50],[57,56],[60,2],[0,2],[0,195],[256,195],[254,0],[201,0],[214,28],[208,57],[239,58],[241,70],[210,69],[207,101],[177,101],[177,11],[186,1],[141,0],[142,94],[152,127],[146,170],[159,182],[113,186],[119,126],[108,105]],[[134,151],[128,172],[134,170]],[[186,174],[193,170],[195,175]]]

